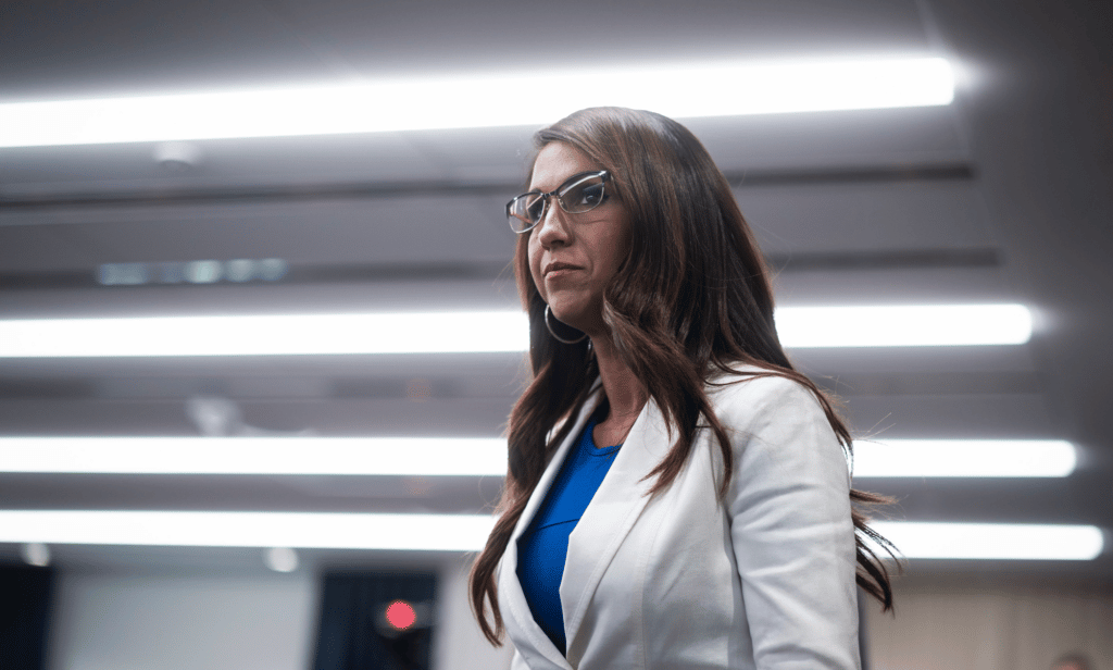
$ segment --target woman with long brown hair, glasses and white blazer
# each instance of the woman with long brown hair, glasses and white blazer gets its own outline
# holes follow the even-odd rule
[[[534,376],[472,570],[484,634],[515,669],[859,667],[856,564],[892,592],[850,503],[883,499],[781,349],[726,178],[651,112],[534,139],[508,205]]]

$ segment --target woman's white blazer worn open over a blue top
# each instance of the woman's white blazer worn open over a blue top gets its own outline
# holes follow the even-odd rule
[[[573,418],[499,565],[513,670],[860,668],[850,475],[818,401],[784,377],[708,394],[731,435],[727,497],[716,495],[722,456],[710,430],[697,432],[676,481],[647,495],[656,477],[643,477],[674,442],[650,401],[569,538],[565,659],[534,621],[516,565],[518,539],[601,394]]]

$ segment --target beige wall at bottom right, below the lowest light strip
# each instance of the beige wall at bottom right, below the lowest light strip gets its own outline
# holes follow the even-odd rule
[[[867,608],[870,670],[1048,670],[1070,651],[1113,670],[1113,584],[905,577],[895,593],[895,618]]]

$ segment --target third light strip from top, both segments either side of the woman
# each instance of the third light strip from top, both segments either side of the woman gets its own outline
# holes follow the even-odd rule
[[[1061,477],[1062,440],[855,443],[855,477]],[[456,437],[0,437],[0,472],[503,476],[506,442]]]

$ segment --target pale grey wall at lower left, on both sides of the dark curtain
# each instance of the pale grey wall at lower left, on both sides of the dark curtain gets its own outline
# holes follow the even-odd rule
[[[434,670],[500,670],[467,604],[467,556],[439,575]],[[62,570],[50,631],[51,670],[304,670],[317,633],[321,578],[218,570],[161,574]],[[6,670],[6,669],[0,669]]]

